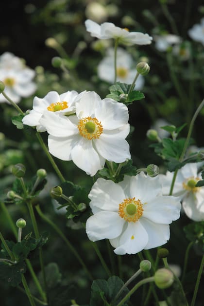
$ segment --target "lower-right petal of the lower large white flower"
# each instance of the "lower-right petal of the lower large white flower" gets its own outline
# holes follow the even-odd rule
[[[169,224],[156,224],[146,218],[140,218],[140,223],[147,231],[149,240],[144,249],[150,249],[160,245],[164,245],[170,239]]]

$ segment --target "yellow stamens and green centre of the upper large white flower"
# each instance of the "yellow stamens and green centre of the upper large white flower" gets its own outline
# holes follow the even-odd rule
[[[85,117],[80,119],[77,127],[79,134],[88,140],[99,138],[103,131],[101,121],[98,121],[97,118],[92,117]]]

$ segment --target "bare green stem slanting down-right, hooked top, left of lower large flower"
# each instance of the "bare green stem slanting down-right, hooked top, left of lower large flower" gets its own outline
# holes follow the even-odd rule
[[[61,229],[54,224],[49,218],[47,218],[45,216],[45,214],[42,212],[42,210],[40,209],[39,205],[35,206],[35,209],[37,210],[37,213],[39,214],[39,216],[48,224],[51,225],[51,227],[60,235],[60,237],[63,239],[63,241],[66,243],[66,245],[68,246],[68,248],[71,250],[71,252],[75,255],[75,257],[78,259],[79,263],[83,266],[86,274],[88,275],[89,279],[92,281],[93,277],[90,274],[90,272],[88,271],[84,261],[82,260],[82,258],[80,257],[79,253],[76,251],[76,249],[74,248],[74,246],[68,241],[68,239],[66,238],[66,236],[63,234],[63,232],[61,231]]]

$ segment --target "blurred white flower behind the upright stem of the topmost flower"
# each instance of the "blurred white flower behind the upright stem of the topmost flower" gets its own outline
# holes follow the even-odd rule
[[[136,76],[136,64],[129,53],[122,48],[117,50],[117,81],[126,84],[132,84]],[[102,59],[98,66],[98,76],[101,80],[109,83],[114,83],[115,68],[114,68],[114,49],[107,50],[107,56]],[[136,80],[135,89],[139,90],[144,85],[144,78],[139,75]]]

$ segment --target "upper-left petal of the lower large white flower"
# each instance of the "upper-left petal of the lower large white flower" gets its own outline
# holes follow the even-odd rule
[[[118,212],[125,195],[119,184],[100,178],[93,184],[88,198],[91,200],[91,208],[97,206],[103,210]]]

